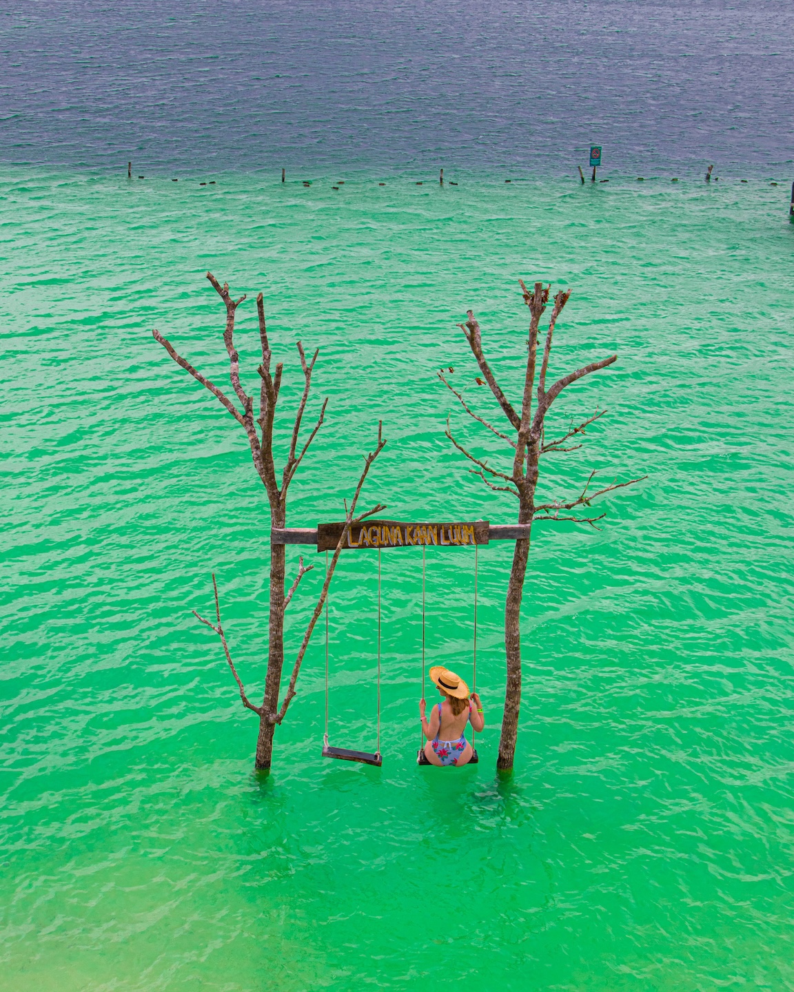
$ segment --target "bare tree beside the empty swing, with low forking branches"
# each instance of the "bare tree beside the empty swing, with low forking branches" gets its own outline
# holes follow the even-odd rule
[[[240,383],[239,355],[234,347],[234,315],[239,305],[243,302],[243,300],[245,300],[245,295],[240,297],[239,300],[232,300],[229,296],[229,288],[227,283],[224,283],[223,286],[221,286],[210,272],[207,272],[206,278],[212,284],[215,292],[218,294],[226,307],[226,327],[223,331],[223,343],[229,357],[229,379],[232,389],[234,390],[234,394],[239,403],[242,405],[242,410],[239,410],[234,402],[229,399],[229,397],[222,393],[208,379],[202,376],[189,361],[178,354],[171,345],[170,341],[163,337],[158,330],[153,330],[152,334],[155,339],[163,345],[166,351],[168,351],[174,361],[186,369],[186,371],[188,371],[204,388],[208,389],[209,392],[226,408],[234,420],[237,421],[237,423],[245,431],[248,438],[248,444],[251,449],[251,458],[253,460],[254,468],[256,469],[257,475],[265,487],[268,502],[270,504],[271,528],[281,529],[286,526],[287,521],[287,491],[289,489],[290,482],[292,482],[298,466],[301,464],[306,452],[309,450],[309,446],[323,426],[326,416],[326,408],[329,402],[328,397],[326,397],[323,401],[323,406],[321,407],[320,414],[314,427],[310,431],[306,440],[301,443],[301,425],[304,413],[306,412],[306,405],[309,400],[309,393],[312,386],[312,372],[314,370],[315,362],[317,361],[317,356],[320,349],[318,348],[317,351],[315,351],[311,362],[307,362],[303,345],[300,341],[298,341],[298,354],[301,359],[301,368],[304,374],[304,389],[298,404],[298,411],[292,425],[289,454],[281,471],[281,484],[279,485],[273,453],[273,428],[276,417],[276,406],[278,404],[279,392],[281,390],[284,364],[283,362],[278,362],[276,364],[275,373],[271,373],[270,366],[272,353],[270,350],[270,341],[268,340],[267,328],[265,326],[265,310],[262,302],[262,294],[260,293],[256,298],[256,306],[259,313],[259,339],[262,352],[262,362],[257,369],[261,379],[259,413],[258,416],[254,416],[254,400],[245,393]],[[240,698],[242,699],[243,705],[246,708],[253,710],[259,716],[259,736],[256,742],[255,765],[257,769],[268,769],[271,766],[273,757],[273,734],[276,724],[281,723],[284,719],[287,708],[296,694],[295,683],[298,679],[298,674],[301,670],[301,664],[303,662],[304,655],[306,654],[306,649],[309,646],[312,632],[314,631],[318,617],[323,610],[323,604],[326,601],[329,585],[331,584],[331,577],[336,567],[336,562],[339,558],[342,545],[347,538],[347,531],[351,524],[359,523],[366,517],[386,509],[385,506],[378,504],[372,510],[360,514],[358,517],[355,516],[355,508],[358,502],[358,497],[361,493],[361,488],[364,484],[364,480],[366,479],[372,462],[375,458],[377,458],[378,454],[380,454],[385,443],[386,441],[382,436],[382,427],[381,425],[378,425],[377,444],[375,445],[374,451],[370,451],[364,459],[364,467],[358,479],[358,485],[356,486],[349,507],[345,501],[345,526],[333,554],[328,575],[326,576],[326,580],[323,584],[320,599],[315,606],[314,613],[312,614],[312,618],[298,651],[289,688],[281,706],[279,706],[279,691],[281,686],[282,669],[284,667],[284,613],[290,603],[290,600],[295,594],[301,579],[307,571],[310,571],[314,567],[314,565],[304,565],[303,558],[300,559],[295,581],[293,582],[290,591],[285,596],[285,546],[283,544],[273,544],[271,541],[268,662],[267,675],[265,677],[265,692],[261,706],[254,705],[254,703],[248,699],[245,694],[243,684],[237,675],[234,664],[232,663],[231,654],[229,653],[226,637],[220,622],[220,604],[218,601],[217,584],[215,582],[214,574],[212,575],[212,587],[215,596],[216,623],[213,624],[196,613],[196,616],[199,618],[201,623],[206,624],[207,627],[210,627],[220,638],[223,651],[226,656],[226,661],[240,690]]]

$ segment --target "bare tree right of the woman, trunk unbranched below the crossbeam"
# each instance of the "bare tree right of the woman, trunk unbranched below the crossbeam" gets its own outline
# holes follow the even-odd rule
[[[484,382],[480,379],[477,379],[477,382],[480,385],[487,384],[514,435],[511,436],[510,434],[498,431],[488,421],[474,413],[464,399],[463,393],[455,389],[450,383],[444,370],[439,372],[439,378],[455,394],[465,412],[490,431],[491,434],[499,437],[513,449],[512,467],[494,468],[488,464],[486,458],[475,457],[463,447],[463,444],[459,443],[450,429],[449,417],[447,419],[447,431],[445,433],[458,450],[476,466],[475,468],[469,468],[469,471],[478,475],[490,489],[497,492],[508,492],[515,496],[518,499],[518,523],[526,525],[526,537],[519,538],[515,543],[513,564],[510,569],[510,580],[507,585],[507,599],[504,606],[504,648],[507,663],[507,685],[504,695],[502,731],[499,739],[499,756],[496,764],[496,767],[502,770],[513,767],[516,737],[518,734],[518,714],[521,705],[521,597],[524,591],[524,577],[526,575],[527,558],[529,557],[532,524],[536,520],[568,520],[577,524],[588,524],[591,527],[595,527],[596,521],[601,520],[604,514],[594,515],[590,512],[593,501],[605,493],[641,481],[640,478],[630,479],[628,482],[614,481],[598,489],[596,492],[592,492],[591,482],[595,475],[595,471],[593,471],[578,496],[568,501],[556,500],[553,503],[535,503],[535,490],[538,485],[541,456],[553,451],[573,451],[581,447],[581,443],[569,443],[569,441],[574,441],[580,434],[585,434],[586,428],[605,413],[605,411],[596,410],[593,417],[588,418],[588,420],[583,421],[581,424],[575,426],[572,422],[568,431],[562,434],[562,436],[547,440],[544,430],[545,418],[552,404],[567,386],[572,385],[579,379],[583,379],[586,375],[590,375],[591,372],[597,372],[599,369],[611,365],[617,359],[617,355],[610,355],[608,358],[591,362],[589,365],[585,365],[575,372],[570,372],[568,375],[563,376],[562,379],[558,379],[553,386],[547,389],[546,375],[549,369],[549,356],[552,350],[554,329],[560,313],[568,303],[571,291],[560,292],[554,298],[554,309],[549,320],[546,342],[543,347],[543,357],[540,363],[540,370],[538,371],[538,333],[541,317],[549,302],[551,286],[544,288],[542,283],[535,283],[534,292],[530,292],[521,280],[519,280],[519,283],[524,295],[524,303],[530,312],[527,364],[524,374],[524,391],[520,411],[516,411],[505,396],[485,358],[482,351],[482,335],[473,312],[468,310],[466,314],[468,319],[465,323],[458,325],[463,330],[465,339],[482,373]],[[534,413],[532,409],[533,393],[536,399]],[[647,476],[643,475],[641,478],[647,478]],[[571,512],[578,511],[579,507],[585,508],[585,514],[580,515],[579,512]],[[598,528],[595,529],[597,530]]]

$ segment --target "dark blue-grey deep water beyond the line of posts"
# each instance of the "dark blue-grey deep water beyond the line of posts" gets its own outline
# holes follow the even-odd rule
[[[794,6],[52,0],[0,11],[0,161],[785,179]]]

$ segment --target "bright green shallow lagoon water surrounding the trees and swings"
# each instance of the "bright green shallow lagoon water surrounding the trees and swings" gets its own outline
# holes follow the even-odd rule
[[[0,989],[794,988],[785,187],[4,175]],[[406,550],[383,556],[383,767],[321,758],[318,637],[273,772],[252,773],[256,719],[191,610],[214,569],[258,696],[266,501],[244,434],[151,336],[225,381],[207,269],[249,294],[251,386],[264,293],[285,412],[296,340],[321,348],[330,416],[292,526],[338,519],[379,418],[367,501],[514,519],[445,438],[452,411],[501,456],[435,372],[498,416],[456,327],[472,307],[517,396],[519,277],[574,289],[553,371],[618,352],[558,402],[561,428],[609,414],[540,488],[649,478],[599,533],[536,527],[512,777],[494,772],[507,543],[479,556],[478,767],[415,764]],[[331,741],[367,749],[376,567],[343,558],[331,588]],[[428,662],[466,677],[472,567],[428,553]],[[321,579],[288,611],[288,657]]]

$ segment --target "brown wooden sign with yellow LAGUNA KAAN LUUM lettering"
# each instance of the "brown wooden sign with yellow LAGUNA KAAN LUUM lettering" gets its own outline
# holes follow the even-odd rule
[[[462,548],[488,543],[489,523],[473,520],[445,524],[406,524],[399,520],[365,520],[353,524],[342,548]],[[336,550],[344,524],[318,524],[317,550]]]

